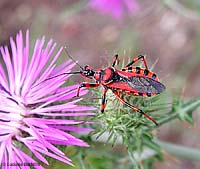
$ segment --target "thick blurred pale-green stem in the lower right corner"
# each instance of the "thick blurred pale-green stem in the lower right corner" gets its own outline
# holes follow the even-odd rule
[[[166,152],[187,160],[192,160],[192,161],[200,161],[200,150],[191,148],[191,147],[186,147],[186,146],[181,146],[178,144],[172,144],[169,142],[164,142],[160,140],[155,141],[158,145],[160,145]]]

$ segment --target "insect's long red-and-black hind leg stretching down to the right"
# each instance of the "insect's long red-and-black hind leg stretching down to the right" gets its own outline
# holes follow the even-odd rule
[[[124,101],[120,96],[119,96],[119,92],[116,91],[116,90],[112,90],[112,92],[115,94],[115,96],[119,99],[119,101],[121,103],[123,103],[124,105],[130,107],[131,109],[135,110],[136,112],[138,113],[141,113],[143,114],[146,118],[148,118],[149,120],[151,120],[152,122],[154,122],[155,125],[158,125],[158,123],[152,119],[150,116],[148,116],[145,112],[143,112],[141,109],[135,107],[135,106],[132,106],[131,104],[129,104],[128,102]]]

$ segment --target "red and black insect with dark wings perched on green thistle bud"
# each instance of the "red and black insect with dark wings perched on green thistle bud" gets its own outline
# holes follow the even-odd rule
[[[118,55],[115,55],[113,58],[112,66],[96,71],[88,65],[86,65],[84,68],[79,65],[81,68],[79,73],[83,77],[94,79],[96,83],[81,83],[77,90],[77,96],[79,96],[80,89],[83,87],[96,88],[99,85],[102,85],[104,87],[101,103],[102,113],[106,107],[106,93],[108,90],[111,90],[121,103],[130,107],[136,112],[143,114],[146,118],[158,125],[154,119],[148,116],[141,109],[123,100],[120,97],[120,92],[125,92],[127,94],[136,96],[151,97],[163,92],[165,90],[165,86],[159,81],[155,73],[149,71],[146,59],[143,55],[139,55],[138,57],[134,58],[133,61],[131,61],[126,65],[125,68],[121,70],[115,69],[117,60]],[[145,68],[132,66],[139,60],[143,61]]]

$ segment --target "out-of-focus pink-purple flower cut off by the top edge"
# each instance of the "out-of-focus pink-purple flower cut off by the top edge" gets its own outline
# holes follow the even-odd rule
[[[118,20],[125,12],[133,13],[139,9],[136,0],[90,0],[89,6]]]

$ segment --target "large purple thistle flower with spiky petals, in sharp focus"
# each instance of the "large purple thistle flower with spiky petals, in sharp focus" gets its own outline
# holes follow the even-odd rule
[[[93,115],[86,111],[94,108],[77,105],[80,98],[72,99],[76,95],[78,85],[61,87],[70,75],[58,76],[46,81],[45,79],[70,72],[75,64],[68,60],[56,67],[55,62],[62,48],[53,54],[56,44],[50,40],[45,46],[45,37],[36,41],[31,57],[29,31],[26,32],[25,41],[20,31],[16,36],[16,42],[10,38],[10,44],[12,54],[9,53],[7,46],[0,47],[4,61],[0,63],[0,164],[2,168],[10,168],[6,165],[10,166],[12,163],[37,164],[30,156],[30,152],[38,161],[47,165],[44,156],[73,165],[55,145],[87,147],[87,143],[67,131],[84,132],[91,129],[76,126],[83,121],[67,120],[63,117]],[[81,95],[86,92],[82,90]],[[29,155],[26,154],[27,151],[21,149],[22,146],[30,151]]]

